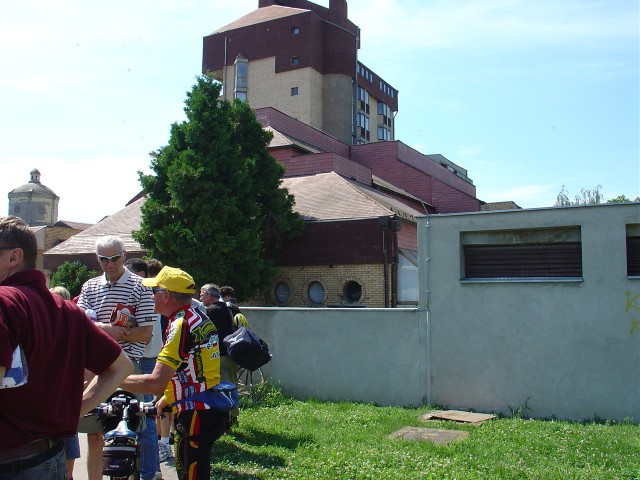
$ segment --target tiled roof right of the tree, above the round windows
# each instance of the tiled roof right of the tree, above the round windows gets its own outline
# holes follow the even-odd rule
[[[282,186],[295,197],[294,210],[305,220],[371,218],[393,214],[411,218],[420,215],[420,212],[403,203],[335,172],[285,178]]]

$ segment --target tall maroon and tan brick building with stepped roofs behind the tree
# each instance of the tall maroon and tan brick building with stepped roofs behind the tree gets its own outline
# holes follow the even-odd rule
[[[395,307],[417,301],[415,216],[480,210],[466,170],[396,140],[398,91],[359,58],[346,0],[259,0],[203,40],[203,72],[274,138],[304,234],[255,304]]]

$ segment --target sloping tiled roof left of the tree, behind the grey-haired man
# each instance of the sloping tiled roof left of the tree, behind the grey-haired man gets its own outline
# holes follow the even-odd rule
[[[128,252],[143,251],[142,247],[131,236],[131,232],[140,228],[142,218],[140,207],[145,197],[129,204],[119,212],[109,215],[95,225],[74,235],[64,242],[48,250],[45,255],[77,255],[93,253],[96,239],[103,235],[117,235],[124,240],[124,247]]]

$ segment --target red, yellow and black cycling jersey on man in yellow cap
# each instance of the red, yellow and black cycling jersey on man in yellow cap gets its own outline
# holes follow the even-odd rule
[[[174,313],[169,322],[157,361],[176,369],[164,391],[167,403],[172,404],[220,383],[220,345],[213,322],[190,306]],[[173,408],[182,411],[211,407],[187,401]]]

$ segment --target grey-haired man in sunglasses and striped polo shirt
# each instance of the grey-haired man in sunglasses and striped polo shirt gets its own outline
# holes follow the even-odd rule
[[[96,255],[104,273],[87,280],[82,286],[78,306],[85,311],[93,310],[96,325],[111,338],[118,341],[134,366],[134,372],[140,371],[140,358],[145,347],[151,341],[155,312],[151,289],[142,285],[142,277],[131,273],[124,267],[127,252],[120,237],[107,235],[96,241]],[[116,326],[111,324],[111,316],[118,304],[130,307],[134,311],[134,326]],[[95,417],[82,419],[78,431],[87,433],[89,443],[87,453],[87,471],[89,480],[102,478],[102,428]],[[144,448],[157,448],[157,444],[142,445]],[[154,478],[143,478],[150,480]]]

